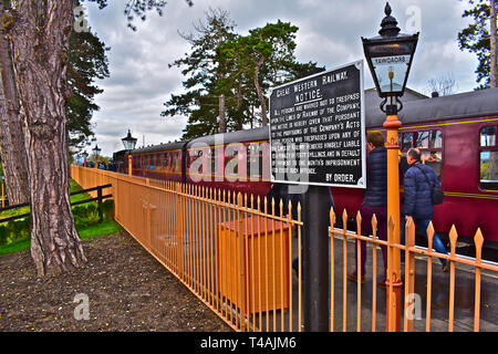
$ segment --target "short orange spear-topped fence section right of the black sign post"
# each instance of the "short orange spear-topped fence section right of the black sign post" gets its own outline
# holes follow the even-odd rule
[[[331,218],[331,225],[335,223],[335,218],[336,216],[334,215],[333,211],[331,211],[330,214],[330,218]],[[342,215],[342,219],[343,219],[343,225],[346,225],[346,220],[347,220],[347,215],[344,211]],[[388,232],[393,232],[393,222],[392,220],[390,220],[391,222],[388,222]],[[349,230],[346,230],[345,228],[343,229],[338,229],[338,228],[331,228],[330,229],[330,236],[331,236],[331,289],[330,289],[330,293],[331,293],[331,313],[334,313],[334,308],[336,306],[336,301],[334,296],[334,291],[335,288],[338,287],[338,281],[334,279],[335,277],[338,277],[338,274],[340,275],[340,271],[335,271],[335,267],[334,264],[338,262],[338,257],[335,256],[335,253],[338,253],[338,251],[334,252],[334,239],[342,239],[342,252],[339,254],[339,258],[341,259],[341,262],[343,263],[343,269],[342,269],[342,288],[343,288],[343,293],[342,293],[342,331],[347,331],[349,329],[352,327],[352,323],[351,321],[349,321],[347,319],[347,308],[351,304],[352,300],[356,301],[356,321],[355,321],[355,330],[356,331],[372,331],[375,332],[377,331],[378,327],[378,323],[382,321],[378,321],[377,316],[381,315],[383,317],[383,320],[386,322],[385,316],[388,315],[388,311],[385,311],[386,308],[393,308],[393,303],[387,303],[385,304],[385,308],[383,306],[383,311],[380,313],[377,305],[378,305],[378,301],[377,301],[377,296],[378,296],[378,283],[377,283],[377,279],[378,279],[378,274],[377,274],[377,259],[378,259],[378,254],[377,254],[377,247],[381,246],[385,246],[388,249],[388,254],[390,257],[392,257],[393,254],[393,250],[395,248],[405,251],[405,267],[404,267],[404,296],[403,296],[403,312],[401,314],[401,319],[397,319],[397,321],[402,321],[403,322],[403,331],[405,332],[412,332],[414,331],[414,320],[415,320],[415,311],[418,311],[418,319],[417,320],[423,320],[425,317],[425,327],[421,327],[418,326],[418,329],[415,329],[416,331],[432,331],[430,327],[430,323],[432,320],[434,320],[432,317],[432,304],[434,303],[434,299],[432,296],[432,292],[433,292],[433,280],[434,280],[434,274],[433,274],[433,261],[435,259],[446,259],[447,261],[449,261],[449,285],[446,287],[446,283],[444,284],[444,289],[443,292],[447,293],[448,296],[448,308],[447,308],[447,317],[442,317],[438,319],[438,331],[444,330],[443,324],[446,324],[447,322],[447,331],[453,332],[454,331],[454,324],[455,324],[455,295],[456,295],[456,264],[460,264],[460,266],[466,266],[466,273],[470,274],[467,278],[471,278],[474,274],[474,294],[466,294],[467,296],[471,296],[473,299],[469,299],[469,303],[471,303],[474,300],[474,313],[471,315],[471,319],[469,315],[467,315],[466,320],[471,320],[473,321],[473,330],[478,332],[479,331],[479,322],[480,322],[480,309],[481,309],[481,303],[480,303],[480,299],[481,299],[481,271],[483,270],[487,270],[489,272],[491,272],[494,275],[496,275],[496,272],[498,272],[498,267],[496,263],[494,262],[489,262],[489,261],[484,261],[481,259],[481,250],[483,250],[483,242],[484,242],[484,238],[483,235],[480,232],[480,229],[478,229],[476,231],[476,235],[474,237],[474,241],[475,241],[475,248],[476,248],[476,258],[470,258],[470,257],[465,257],[465,256],[459,256],[456,254],[456,243],[457,243],[457,232],[455,227],[452,228],[450,232],[449,232],[449,240],[450,240],[450,251],[448,254],[443,254],[443,253],[438,253],[436,251],[433,251],[433,238],[435,235],[434,231],[434,227],[433,223],[430,222],[428,228],[427,228],[427,238],[428,238],[428,244],[427,248],[424,247],[418,247],[415,246],[415,225],[413,222],[412,219],[409,219],[409,221],[406,222],[406,246],[403,244],[397,244],[397,243],[393,243],[390,241],[384,241],[377,238],[377,232],[376,232],[376,225],[377,225],[377,220],[375,218],[375,216],[372,218],[372,230],[373,230],[373,235],[371,237],[365,237],[361,235],[361,215],[360,212],[356,216],[356,223],[357,223],[357,230],[356,232],[351,232]],[[390,239],[390,238],[388,238]],[[353,284],[353,287],[356,288],[356,294],[354,296],[354,294],[351,294],[347,292],[347,285],[351,284],[351,282],[349,283],[346,281],[347,279],[347,249],[349,249],[349,244],[347,244],[347,240],[353,240],[354,244],[353,244],[353,250],[354,247],[357,250],[357,259],[356,259],[356,266],[352,267],[352,268],[356,268],[360,269],[360,263],[361,263],[361,251],[360,251],[360,243],[363,242],[367,242],[367,244],[370,244],[372,247],[372,291],[369,291],[369,294],[372,295],[371,299],[365,299],[365,296],[362,295],[362,290],[365,291],[366,287],[362,284],[362,281],[360,281],[360,272],[357,273],[357,281],[356,284]],[[350,244],[351,248],[351,244]],[[353,254],[354,257],[354,254]],[[425,264],[425,269],[417,268],[415,267],[415,258],[418,258],[418,260]],[[351,258],[351,257],[350,257]],[[354,258],[353,258],[354,259]],[[388,260],[392,263],[392,260]],[[354,266],[354,264],[352,264]],[[351,269],[351,268],[350,268]],[[367,268],[369,269],[369,268]],[[369,272],[367,272],[369,274]],[[422,294],[417,293],[415,290],[415,278],[416,275],[418,281],[422,283],[422,285],[426,285],[426,287],[419,287],[419,288],[426,288],[425,291],[426,293],[423,294],[426,298],[425,301],[425,311],[423,311],[423,306],[422,304],[417,304],[417,306],[415,306],[415,301],[418,299],[422,299]],[[381,278],[382,279],[382,278]],[[471,281],[471,279],[470,279]],[[467,279],[467,282],[469,282],[469,280]],[[440,284],[439,284],[440,285]],[[390,284],[385,291],[386,293],[392,293],[393,292],[393,288],[392,284]],[[390,296],[387,299],[394,299],[394,296]],[[366,301],[370,300],[370,301]],[[391,300],[393,301],[393,300]],[[371,305],[371,308],[369,309],[366,306],[366,304],[364,304],[363,302],[369,302],[369,304]],[[381,302],[382,304],[382,302]],[[440,304],[438,304],[440,306]],[[422,312],[422,313],[421,313]],[[470,311],[468,311],[470,312]],[[362,314],[367,314],[369,317],[371,317],[371,326],[364,329],[362,327],[362,325],[365,325],[366,321],[362,321]],[[394,313],[391,313],[391,315],[394,315]],[[331,315],[330,317],[330,329],[331,331],[334,330],[341,330],[341,324],[336,324],[334,323],[334,317],[339,317],[338,315]],[[396,319],[393,319],[393,321],[391,321],[391,323],[395,323]],[[491,331],[496,331],[498,329],[497,324],[491,324],[487,330],[491,330]],[[391,329],[385,327],[386,331],[390,331]]]

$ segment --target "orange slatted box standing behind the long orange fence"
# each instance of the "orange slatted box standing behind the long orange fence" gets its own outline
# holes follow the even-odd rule
[[[290,230],[286,222],[262,217],[219,223],[216,269],[221,296],[245,313],[289,308]]]

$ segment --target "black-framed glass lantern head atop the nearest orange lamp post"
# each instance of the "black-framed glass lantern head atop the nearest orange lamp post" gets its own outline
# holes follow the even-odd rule
[[[391,15],[391,7],[385,4],[385,18],[382,20],[377,37],[362,38],[366,62],[377,90],[377,94],[384,98],[381,110],[390,114],[396,114],[403,105],[398,97],[403,96],[413,55],[417,46],[418,32],[415,34],[400,33],[397,21]],[[384,105],[391,97],[391,102],[384,110]],[[400,108],[397,108],[400,103]]]

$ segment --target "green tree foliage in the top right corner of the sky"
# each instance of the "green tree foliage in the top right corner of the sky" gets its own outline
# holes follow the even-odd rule
[[[477,88],[486,88],[490,85],[490,6],[489,0],[469,0],[474,7],[464,11],[463,18],[473,18],[474,23],[458,32],[458,46],[460,50],[468,50],[477,55],[479,64],[476,69],[477,80],[479,84]],[[495,19],[496,21],[496,19]],[[495,33],[497,35],[497,33]]]

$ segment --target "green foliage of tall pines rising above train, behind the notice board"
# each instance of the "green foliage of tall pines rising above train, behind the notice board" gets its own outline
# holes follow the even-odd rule
[[[227,11],[210,9],[194,34],[181,34],[191,51],[169,66],[183,67],[186,93],[172,95],[162,116],[188,116],[183,138],[219,133],[221,96],[227,132],[260,125],[260,100],[268,88],[317,69],[295,61],[298,27],[279,20],[248,35],[236,33],[235,27]]]

